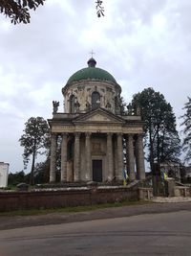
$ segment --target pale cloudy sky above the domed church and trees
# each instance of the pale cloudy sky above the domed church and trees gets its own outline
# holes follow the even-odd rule
[[[0,15],[0,162],[23,170],[19,138],[30,117],[52,118],[53,101],[63,111],[62,87],[87,66],[110,72],[130,103],[153,87],[173,106],[180,130],[182,107],[191,97],[191,1],[47,0],[31,23],[12,25]]]

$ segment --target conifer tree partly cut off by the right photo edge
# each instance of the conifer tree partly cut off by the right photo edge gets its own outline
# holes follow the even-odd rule
[[[184,160],[187,163],[191,163],[191,98],[188,97],[188,102],[184,105],[183,109],[185,113],[181,116],[183,122],[181,126],[183,128],[184,139],[182,143],[182,151],[184,151],[185,157]]]

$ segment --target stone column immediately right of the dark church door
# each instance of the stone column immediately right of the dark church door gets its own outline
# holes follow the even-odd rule
[[[109,181],[111,181],[114,178],[114,157],[112,137],[112,133],[107,133],[107,168]]]

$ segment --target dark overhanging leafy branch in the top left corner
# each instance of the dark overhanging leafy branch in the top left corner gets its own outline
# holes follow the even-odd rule
[[[45,0],[1,0],[0,12],[11,18],[11,23],[30,23],[30,10],[35,11]]]

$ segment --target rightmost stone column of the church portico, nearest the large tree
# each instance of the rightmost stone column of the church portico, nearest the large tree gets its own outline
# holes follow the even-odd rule
[[[137,163],[137,174],[138,179],[145,179],[145,169],[144,169],[144,152],[142,143],[142,134],[138,134],[136,141],[136,163]]]

